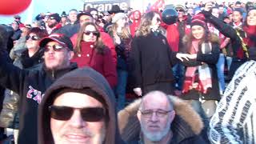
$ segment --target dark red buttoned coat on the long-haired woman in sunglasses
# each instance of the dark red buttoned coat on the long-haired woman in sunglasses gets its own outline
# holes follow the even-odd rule
[[[110,49],[106,47],[104,54],[99,54],[94,48],[94,43],[81,42],[81,50],[81,54],[75,55],[71,62],[77,62],[78,67],[90,66],[102,74],[114,88],[118,76]]]

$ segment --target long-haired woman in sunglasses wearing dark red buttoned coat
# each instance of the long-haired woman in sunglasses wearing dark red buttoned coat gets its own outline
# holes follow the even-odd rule
[[[102,43],[101,34],[94,22],[86,22],[78,32],[74,44],[74,58],[78,67],[90,66],[102,74],[110,86],[117,84],[117,71],[110,49]]]

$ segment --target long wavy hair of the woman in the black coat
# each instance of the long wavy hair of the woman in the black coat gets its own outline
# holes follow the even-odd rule
[[[142,17],[142,21],[141,24],[138,26],[138,30],[136,31],[136,36],[146,36],[148,34],[150,34],[151,29],[150,29],[150,25],[151,25],[151,21],[154,18],[154,15],[158,14],[155,11],[150,11],[148,13],[146,13],[143,17]]]

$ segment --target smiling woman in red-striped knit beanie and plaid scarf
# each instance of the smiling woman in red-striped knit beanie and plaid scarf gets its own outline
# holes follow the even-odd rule
[[[183,38],[186,47],[183,51],[191,54],[191,57],[190,61],[185,62],[187,67],[182,98],[193,100],[197,105],[208,105],[206,114],[210,117],[214,114],[214,101],[220,99],[215,66],[220,53],[219,39],[209,32],[203,14],[195,15],[190,25],[190,35]]]

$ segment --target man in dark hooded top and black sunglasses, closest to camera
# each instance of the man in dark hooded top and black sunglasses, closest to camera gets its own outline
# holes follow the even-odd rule
[[[85,67],[59,78],[38,109],[39,144],[122,144],[109,83]]]

